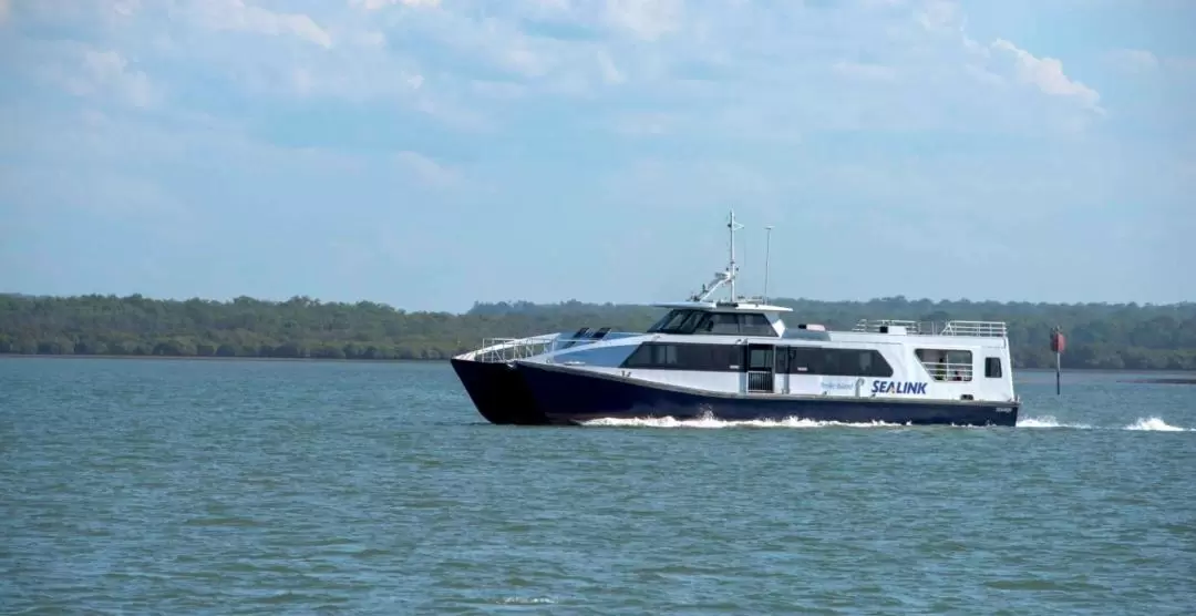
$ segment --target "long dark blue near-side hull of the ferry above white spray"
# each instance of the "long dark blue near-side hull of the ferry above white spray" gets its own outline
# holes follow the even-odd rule
[[[536,408],[551,423],[599,417],[724,421],[804,419],[843,423],[1014,426],[1018,404],[814,396],[718,395],[568,368],[517,365]]]

